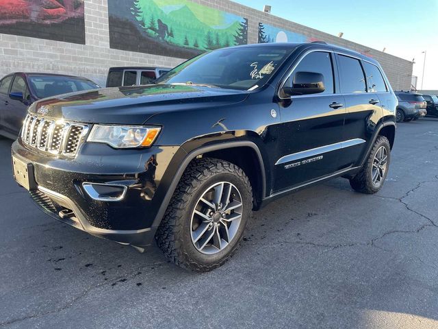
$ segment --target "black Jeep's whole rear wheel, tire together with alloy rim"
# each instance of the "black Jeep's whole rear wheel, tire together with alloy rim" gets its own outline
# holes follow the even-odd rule
[[[385,152],[386,155],[385,163],[383,163],[384,156],[378,154],[382,149],[384,149],[382,152]],[[350,186],[360,193],[374,194],[378,192],[385,182],[390,162],[391,147],[388,138],[385,136],[378,136],[361,171],[359,171],[355,177],[350,179]],[[379,180],[375,180],[375,178],[378,178],[376,175],[380,176]]]

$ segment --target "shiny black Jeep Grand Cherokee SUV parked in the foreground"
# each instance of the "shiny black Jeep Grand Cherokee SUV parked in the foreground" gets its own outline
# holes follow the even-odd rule
[[[12,145],[47,212],[196,271],[235,252],[252,210],[342,176],[383,185],[397,99],[375,60],[324,43],[204,53],[155,84],[37,101]]]

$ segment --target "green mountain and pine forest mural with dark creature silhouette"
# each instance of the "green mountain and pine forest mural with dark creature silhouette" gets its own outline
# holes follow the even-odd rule
[[[246,45],[248,19],[189,0],[108,0],[110,47],[190,58]]]

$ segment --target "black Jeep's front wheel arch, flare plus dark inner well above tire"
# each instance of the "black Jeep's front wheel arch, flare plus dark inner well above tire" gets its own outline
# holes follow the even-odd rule
[[[239,152],[241,153],[239,154]],[[236,160],[236,158],[233,158],[233,156],[235,156],[236,154],[240,155],[239,157],[237,157],[237,159],[240,160]],[[249,164],[242,161],[243,160],[242,156],[248,156],[248,155],[253,157],[253,160],[256,160],[255,166],[257,167],[251,168]],[[241,165],[243,165],[243,167],[246,167],[246,168],[242,168],[242,167],[241,168],[242,170],[244,170],[244,172],[246,173],[246,175],[248,175],[248,178],[250,179],[253,188],[253,193],[256,193],[255,200],[257,199],[257,202],[255,203],[255,208],[258,208],[259,202],[261,201],[261,199],[265,197],[266,194],[266,171],[259,147],[257,147],[255,143],[250,141],[233,141],[228,143],[218,143],[214,145],[199,147],[191,151],[187,156],[185,156],[183,162],[181,162],[181,165],[177,170],[177,173],[175,173],[175,176],[172,179],[172,182],[170,183],[168,191],[166,192],[163,202],[159,207],[157,215],[155,216],[152,227],[155,228],[159,226],[159,223],[161,223],[162,218],[164,216],[164,212],[166,212],[166,208],[170,203],[170,199],[172,198],[173,193],[175,193],[175,189],[177,188],[177,185],[181,180],[181,177],[185,169],[187,169],[190,162],[192,162],[194,159],[196,159],[199,156],[202,156],[204,158],[206,157],[219,158],[221,160],[227,160],[229,162],[232,162],[239,167],[241,167]],[[251,162],[251,164],[253,163],[254,162]],[[257,169],[259,169],[258,170],[259,175],[257,175]],[[253,182],[255,182],[255,186],[253,186]],[[257,188],[257,190],[255,190],[255,188]]]

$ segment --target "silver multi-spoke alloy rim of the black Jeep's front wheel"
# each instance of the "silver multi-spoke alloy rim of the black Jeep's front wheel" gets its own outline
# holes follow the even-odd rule
[[[194,247],[203,254],[216,254],[237,235],[242,219],[242,195],[234,184],[218,182],[196,202],[190,221]]]

